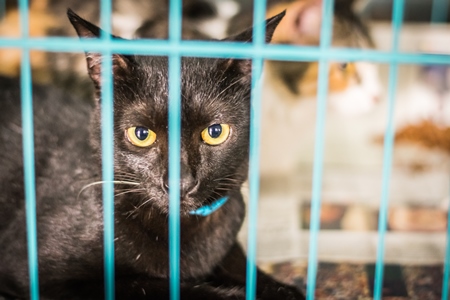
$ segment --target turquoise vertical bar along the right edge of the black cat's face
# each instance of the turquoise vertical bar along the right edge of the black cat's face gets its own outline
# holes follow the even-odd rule
[[[247,273],[246,299],[256,298],[256,248],[258,227],[259,198],[259,145],[261,126],[261,86],[258,84],[263,61],[258,49],[265,43],[266,1],[255,1],[253,11],[253,47],[252,80],[250,98],[250,150],[249,150],[249,188],[250,200],[248,208],[248,240],[247,240]]]

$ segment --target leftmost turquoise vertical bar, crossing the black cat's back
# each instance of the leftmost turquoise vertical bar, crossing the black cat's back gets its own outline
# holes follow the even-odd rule
[[[19,1],[22,38],[29,36],[28,1]],[[22,143],[24,158],[25,207],[27,223],[28,272],[30,276],[30,298],[39,299],[38,245],[36,226],[36,182],[34,166],[33,96],[31,86],[30,51],[22,49],[21,63]]]

